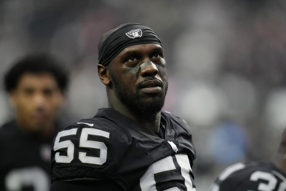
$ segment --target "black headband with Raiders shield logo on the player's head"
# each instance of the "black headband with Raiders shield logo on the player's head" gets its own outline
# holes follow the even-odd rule
[[[162,46],[158,35],[149,27],[139,23],[126,24],[105,39],[99,50],[99,64],[109,64],[109,62],[126,47],[149,43]]]

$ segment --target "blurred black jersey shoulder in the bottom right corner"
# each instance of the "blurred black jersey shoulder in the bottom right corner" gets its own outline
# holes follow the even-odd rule
[[[227,167],[209,191],[285,191],[285,177],[272,163],[237,163]]]

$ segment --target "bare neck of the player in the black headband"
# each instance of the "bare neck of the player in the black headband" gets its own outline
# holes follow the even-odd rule
[[[160,121],[161,121],[161,112],[155,114],[142,114],[138,111],[135,111],[125,104],[112,104],[108,102],[108,107],[113,108],[114,110],[118,111],[122,115],[143,124],[144,126],[148,127],[154,133],[159,132],[160,128]]]

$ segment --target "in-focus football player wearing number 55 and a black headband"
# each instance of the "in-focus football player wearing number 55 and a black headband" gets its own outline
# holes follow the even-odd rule
[[[125,23],[98,47],[108,108],[57,134],[51,191],[194,191],[190,128],[161,112],[168,82],[160,38],[147,26]]]

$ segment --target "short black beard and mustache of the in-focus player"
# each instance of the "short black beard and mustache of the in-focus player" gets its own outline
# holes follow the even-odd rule
[[[144,80],[144,82],[153,79],[155,79],[155,77],[150,77]],[[159,93],[149,94],[150,97],[153,97],[151,101],[145,101],[141,98],[142,96],[139,95],[140,84],[143,84],[144,82],[137,85],[136,93],[134,95],[128,91],[128,89],[126,89],[125,86],[119,82],[119,80],[114,77],[112,77],[112,80],[118,99],[129,108],[131,108],[134,112],[140,113],[143,116],[161,112],[165,103],[165,97],[168,90],[168,82],[162,86],[163,91]]]

